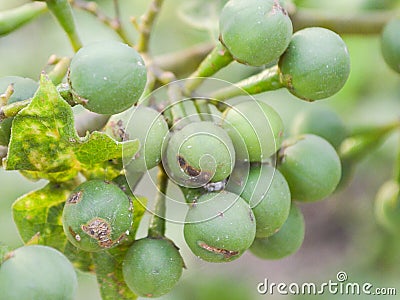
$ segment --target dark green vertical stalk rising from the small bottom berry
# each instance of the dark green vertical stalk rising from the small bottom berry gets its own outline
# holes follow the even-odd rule
[[[165,235],[165,212],[166,212],[166,192],[168,187],[168,176],[160,166],[157,175],[157,196],[156,206],[149,226],[148,236],[160,238]]]

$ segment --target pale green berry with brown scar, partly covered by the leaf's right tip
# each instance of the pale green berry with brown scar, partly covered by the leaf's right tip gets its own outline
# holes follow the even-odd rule
[[[145,172],[161,161],[161,148],[168,133],[168,124],[156,110],[139,106],[112,116],[106,132],[117,141],[138,139],[140,150],[129,164],[130,170]]]

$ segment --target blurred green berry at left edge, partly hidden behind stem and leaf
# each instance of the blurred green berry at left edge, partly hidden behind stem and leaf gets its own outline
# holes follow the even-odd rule
[[[3,94],[10,84],[13,84],[14,92],[8,99],[7,104],[32,98],[39,87],[39,84],[30,78],[6,76],[0,78],[0,94]],[[7,146],[10,142],[12,120],[13,118],[8,118],[0,121],[1,146]]]

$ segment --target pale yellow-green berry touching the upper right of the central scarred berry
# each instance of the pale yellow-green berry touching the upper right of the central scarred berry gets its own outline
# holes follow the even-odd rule
[[[281,117],[260,101],[245,101],[228,108],[222,117],[222,127],[232,139],[238,160],[267,161],[282,143]]]

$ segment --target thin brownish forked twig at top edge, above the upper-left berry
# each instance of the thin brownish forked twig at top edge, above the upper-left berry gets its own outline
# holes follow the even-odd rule
[[[120,39],[124,43],[132,46],[132,42],[130,41],[128,34],[126,33],[125,28],[122,26],[122,23],[119,20],[119,13],[116,13],[116,18],[113,19],[113,18],[108,17],[106,14],[104,14],[103,11],[101,11],[99,9],[99,6],[96,2],[71,0],[70,3],[73,7],[76,7],[83,11],[86,11],[89,14],[96,17],[101,23],[103,23],[104,25],[106,25],[109,28],[111,28],[112,30],[114,30],[115,33],[120,37]],[[116,12],[117,12],[117,11],[119,11],[119,8],[117,8],[117,6],[118,6],[117,3],[116,2],[114,2],[114,3],[115,3],[114,7],[116,7]]]

